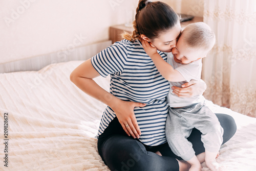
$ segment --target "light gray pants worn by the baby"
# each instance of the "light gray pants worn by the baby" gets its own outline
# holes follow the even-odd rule
[[[201,140],[207,151],[219,151],[223,141],[223,128],[215,113],[202,102],[183,108],[169,107],[165,134],[174,154],[185,161],[195,155],[191,142],[187,140],[193,128],[201,131]]]

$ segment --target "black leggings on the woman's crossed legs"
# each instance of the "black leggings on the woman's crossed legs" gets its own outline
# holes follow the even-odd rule
[[[216,115],[224,130],[223,143],[225,143],[236,133],[237,126],[231,116],[220,113]],[[196,155],[205,151],[199,130],[193,129],[187,139],[193,144]],[[129,137],[124,132],[117,117],[99,136],[98,151],[105,164],[114,171],[178,171],[179,164],[176,159],[181,160],[170,150],[167,142],[157,146],[148,146],[133,137]],[[157,151],[162,156],[155,154]]]

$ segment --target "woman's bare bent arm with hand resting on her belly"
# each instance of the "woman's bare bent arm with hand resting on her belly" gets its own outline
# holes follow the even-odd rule
[[[137,123],[134,107],[144,107],[145,104],[126,102],[105,91],[93,79],[100,76],[93,67],[91,59],[80,64],[70,75],[70,80],[83,92],[111,107],[127,135],[139,138],[141,134]],[[129,124],[129,127],[125,127]]]

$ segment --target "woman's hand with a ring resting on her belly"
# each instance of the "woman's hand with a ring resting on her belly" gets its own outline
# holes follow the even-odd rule
[[[140,137],[141,132],[134,114],[134,108],[144,106],[146,104],[120,100],[114,107],[111,107],[127,135],[132,135],[134,138]]]

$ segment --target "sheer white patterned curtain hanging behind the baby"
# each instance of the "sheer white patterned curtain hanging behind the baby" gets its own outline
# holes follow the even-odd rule
[[[204,0],[216,44],[203,59],[206,99],[256,117],[256,1]]]

